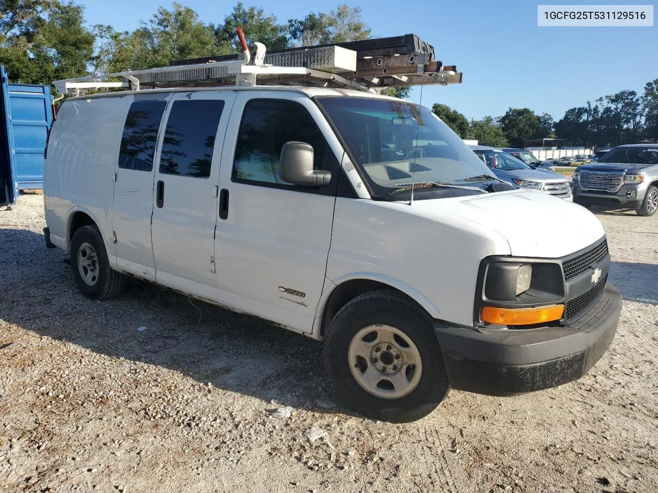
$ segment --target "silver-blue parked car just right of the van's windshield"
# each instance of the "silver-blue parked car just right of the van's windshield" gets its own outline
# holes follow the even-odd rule
[[[482,145],[470,145],[468,147],[500,179],[559,199],[573,200],[567,179],[552,170],[534,170],[516,156],[496,147]]]

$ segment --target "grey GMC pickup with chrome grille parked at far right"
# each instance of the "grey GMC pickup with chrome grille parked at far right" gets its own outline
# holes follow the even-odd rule
[[[578,166],[571,185],[574,201],[587,208],[630,208],[653,216],[658,209],[658,145],[615,147],[598,162]]]

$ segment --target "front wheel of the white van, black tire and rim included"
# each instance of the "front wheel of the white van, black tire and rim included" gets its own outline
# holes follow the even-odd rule
[[[325,364],[343,401],[383,421],[420,419],[450,390],[432,319],[396,291],[361,294],[336,314]]]

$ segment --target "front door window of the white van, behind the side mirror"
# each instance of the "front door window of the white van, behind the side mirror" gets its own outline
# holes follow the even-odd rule
[[[316,170],[328,169],[325,158],[331,153],[306,108],[281,99],[249,101],[238,133],[233,179],[290,185],[278,173],[281,149],[288,141],[311,145],[313,167]]]

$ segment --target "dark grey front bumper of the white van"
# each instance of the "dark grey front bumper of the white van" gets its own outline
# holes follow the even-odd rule
[[[568,326],[479,329],[436,323],[450,385],[511,396],[576,380],[609,348],[621,311],[621,293],[607,283],[601,299]]]

